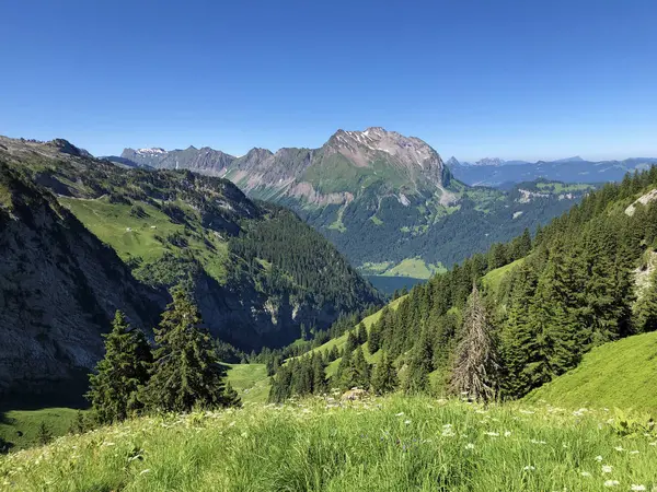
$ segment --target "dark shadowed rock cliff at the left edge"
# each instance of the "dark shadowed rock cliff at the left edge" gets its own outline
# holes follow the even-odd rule
[[[137,326],[151,326],[154,293],[1,157],[0,195],[0,395],[47,393],[93,367],[117,308]]]

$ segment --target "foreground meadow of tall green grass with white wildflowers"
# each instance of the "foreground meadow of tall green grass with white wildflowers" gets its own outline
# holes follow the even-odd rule
[[[610,418],[397,396],[142,418],[2,457],[0,488],[586,492],[616,480],[654,490],[656,436],[621,436]]]

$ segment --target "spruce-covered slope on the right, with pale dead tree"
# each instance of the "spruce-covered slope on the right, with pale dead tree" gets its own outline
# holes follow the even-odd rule
[[[327,343],[283,365],[272,398],[358,386],[514,399],[593,347],[657,329],[655,188],[654,167],[626,176],[534,237],[526,231],[436,274],[350,330],[342,350]]]

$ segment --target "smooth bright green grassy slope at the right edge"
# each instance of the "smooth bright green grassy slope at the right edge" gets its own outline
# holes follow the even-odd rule
[[[657,332],[606,343],[527,401],[650,410],[657,415]]]

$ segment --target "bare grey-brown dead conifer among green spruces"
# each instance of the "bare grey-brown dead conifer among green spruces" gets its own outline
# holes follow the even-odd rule
[[[450,389],[472,400],[489,401],[497,396],[499,365],[495,339],[476,284],[463,316],[463,336],[457,347]]]

